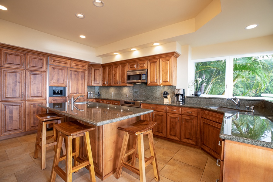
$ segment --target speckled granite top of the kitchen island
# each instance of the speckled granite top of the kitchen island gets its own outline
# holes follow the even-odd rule
[[[38,106],[96,126],[152,113],[153,110],[90,102],[89,104],[47,103]]]

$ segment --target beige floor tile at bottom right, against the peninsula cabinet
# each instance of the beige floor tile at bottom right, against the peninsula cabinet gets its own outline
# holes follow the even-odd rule
[[[220,177],[220,167],[217,165],[207,163],[201,180],[210,182],[216,181]]]

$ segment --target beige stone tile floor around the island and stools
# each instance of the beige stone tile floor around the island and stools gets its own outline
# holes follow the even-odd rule
[[[47,132],[50,134],[50,131]],[[53,146],[46,149],[46,168],[41,170],[41,155],[33,159],[36,134],[0,141],[0,182],[47,182],[53,163]],[[148,139],[144,138],[145,156],[149,156]],[[216,160],[202,150],[154,138],[160,182],[214,182],[219,178],[220,167]],[[64,162],[64,161],[62,161]],[[65,163],[59,165],[65,169]],[[138,167],[138,163],[136,163]],[[83,168],[72,175],[74,182],[90,181],[89,172]],[[63,181],[59,176],[56,182]],[[96,177],[96,182],[102,181]],[[119,180],[115,174],[103,182],[139,181],[139,176],[123,168]],[[146,167],[146,181],[155,182],[153,167]]]

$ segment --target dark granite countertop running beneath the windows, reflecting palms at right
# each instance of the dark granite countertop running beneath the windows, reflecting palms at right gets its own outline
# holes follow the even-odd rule
[[[273,149],[273,112],[264,108],[256,107],[254,112],[224,112],[211,109],[212,104],[206,103],[174,103],[163,100],[144,101],[142,103],[193,107],[224,113],[223,123],[220,130],[220,138],[226,140],[248,143],[251,145]],[[219,105],[217,105],[219,106]],[[233,108],[234,107],[229,107]],[[253,114],[253,115],[252,115]],[[272,138],[271,138],[272,137]]]

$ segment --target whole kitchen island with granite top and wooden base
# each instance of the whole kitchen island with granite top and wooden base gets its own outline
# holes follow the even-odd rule
[[[152,113],[153,110],[103,103],[47,103],[42,108],[68,116],[69,120],[95,126],[89,132],[96,176],[104,180],[116,172],[124,132],[117,127],[136,122],[136,116]],[[128,147],[131,147],[132,142]],[[84,147],[83,139],[80,147]],[[86,160],[86,151],[81,150],[79,161]]]

